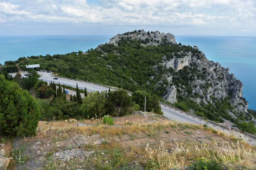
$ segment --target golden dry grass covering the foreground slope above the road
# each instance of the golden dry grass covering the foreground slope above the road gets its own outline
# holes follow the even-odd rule
[[[84,152],[94,152],[85,160],[77,158],[70,162],[54,161],[49,157],[49,170],[78,167],[99,170],[123,167],[169,170],[172,167],[189,166],[201,158],[217,161],[231,169],[235,169],[232,166],[240,165],[255,168],[255,147],[234,136],[203,125],[171,122],[162,118],[159,118],[161,122],[158,123],[146,123],[149,116],[147,119],[141,117],[143,123],[138,121],[140,116],[136,115],[117,118],[115,123],[119,120],[118,125],[111,126],[99,124],[102,119],[86,121],[88,124],[98,123],[90,126],[74,126],[77,122],[40,122],[38,136],[28,140],[44,139],[56,145],[54,140],[58,138],[58,145],[65,148],[67,141],[71,141],[71,134],[75,140],[84,139],[87,142],[79,145]],[[103,142],[95,144],[94,139]]]

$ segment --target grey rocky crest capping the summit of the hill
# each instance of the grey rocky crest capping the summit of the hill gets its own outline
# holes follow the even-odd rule
[[[115,37],[111,38],[108,43],[113,45],[118,45],[118,42],[122,40],[141,40],[142,41],[141,45],[143,46],[159,45],[163,42],[167,42],[170,44],[177,44],[173,34],[170,34],[170,33],[164,34],[164,33],[160,33],[159,31],[146,32],[144,30],[118,34]]]

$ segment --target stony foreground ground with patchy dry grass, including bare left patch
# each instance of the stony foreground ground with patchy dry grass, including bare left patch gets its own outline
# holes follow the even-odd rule
[[[143,112],[113,119],[114,125],[102,125],[102,119],[41,121],[37,136],[14,139],[15,162],[7,169],[13,169],[14,164],[17,170],[148,169],[151,166],[148,161],[157,156],[154,152],[159,152],[160,148],[163,149],[161,154],[169,154],[170,158],[171,153],[176,152],[184,156],[183,161],[178,160],[182,156],[175,156],[177,162],[183,163],[169,164],[169,167],[185,167],[194,160],[192,152],[195,157],[202,157],[208,153],[207,149],[217,152],[218,148],[224,155],[244,148],[244,152],[248,152],[247,161],[239,161],[239,158],[238,164],[251,167],[252,158],[256,160],[255,155],[249,154],[256,148],[208,127],[171,122],[154,113]],[[196,147],[206,151],[197,153],[198,149],[192,150]]]

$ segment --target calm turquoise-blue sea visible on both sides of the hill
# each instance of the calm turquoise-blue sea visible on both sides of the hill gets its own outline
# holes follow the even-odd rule
[[[19,57],[87,51],[111,35],[0,37],[0,63]],[[198,46],[209,60],[230,68],[244,84],[243,96],[256,110],[256,37],[175,36],[177,43]]]

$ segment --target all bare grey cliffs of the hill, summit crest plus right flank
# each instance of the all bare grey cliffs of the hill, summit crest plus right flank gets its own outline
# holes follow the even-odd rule
[[[176,52],[164,55],[161,62],[154,65],[153,68],[158,75],[150,77],[156,82],[156,88],[163,86],[166,89],[163,98],[167,101],[175,103],[180,96],[184,96],[198,104],[214,105],[215,102],[228,99],[236,111],[247,113],[248,103],[242,96],[242,82],[236,79],[234,74],[229,73],[229,68],[221,67],[218,62],[209,61],[198,47],[177,45],[175,36],[170,33],[144,30],[118,34],[111,38],[108,44],[117,46],[124,40],[128,42],[137,40],[143,47],[175,46]],[[160,71],[163,67],[164,74]],[[162,79],[157,78],[159,75]]]

